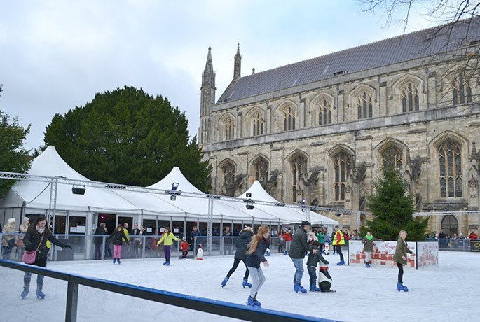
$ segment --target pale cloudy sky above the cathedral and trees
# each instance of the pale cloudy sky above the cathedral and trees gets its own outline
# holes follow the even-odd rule
[[[237,43],[247,76],[403,33],[353,0],[0,3],[0,110],[32,125],[27,148],[43,145],[55,113],[124,85],[185,111],[193,137],[209,46],[218,99],[233,78]],[[406,31],[431,26],[414,11]]]

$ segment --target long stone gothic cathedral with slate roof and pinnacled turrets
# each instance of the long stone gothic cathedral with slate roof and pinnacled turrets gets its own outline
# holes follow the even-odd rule
[[[240,195],[259,180],[281,202],[354,211],[334,217],[354,230],[393,162],[418,212],[447,213],[430,216],[430,230],[477,231],[479,45],[472,19],[248,76],[239,46],[219,99],[208,48],[198,141],[211,193]]]

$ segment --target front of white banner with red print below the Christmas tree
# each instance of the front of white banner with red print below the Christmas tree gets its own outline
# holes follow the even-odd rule
[[[410,241],[409,249],[416,254],[416,243]],[[375,265],[396,267],[397,263],[393,261],[393,254],[397,247],[397,241],[373,241],[373,253],[371,253],[371,266]],[[348,242],[348,261],[349,265],[365,265],[364,244],[359,240],[350,240]],[[438,249],[438,246],[437,246]],[[407,254],[407,265],[404,268],[416,269],[416,255]],[[438,258],[438,252],[437,252]]]

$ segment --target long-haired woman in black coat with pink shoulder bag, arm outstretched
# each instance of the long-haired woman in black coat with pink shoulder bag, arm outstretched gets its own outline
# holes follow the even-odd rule
[[[30,265],[39,267],[46,267],[48,251],[50,250],[50,243],[60,246],[62,248],[70,248],[70,245],[62,243],[62,241],[55,238],[52,232],[48,229],[47,219],[45,216],[38,216],[32,225],[29,225],[23,242],[25,244],[25,251],[36,251],[35,261]],[[47,244],[47,241],[50,243]],[[36,276],[36,297],[41,299],[45,298],[43,293],[43,275]],[[30,290],[30,281],[32,279],[32,273],[25,272],[23,276],[23,291],[22,298],[25,298]]]

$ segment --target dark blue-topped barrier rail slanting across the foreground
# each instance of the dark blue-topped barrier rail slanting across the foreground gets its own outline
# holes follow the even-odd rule
[[[76,274],[67,274],[56,272],[51,269],[37,267],[32,265],[20,264],[8,260],[0,260],[0,266],[11,269],[17,269],[32,274],[41,274],[53,279],[67,281],[67,307],[65,310],[65,321],[76,322],[78,305],[78,286],[88,286],[100,290],[108,290],[112,293],[137,297],[143,300],[150,300],[169,305],[181,307],[182,309],[193,309],[210,314],[238,318],[243,321],[275,321],[275,322],[293,322],[293,321],[317,321],[317,322],[338,322],[315,316],[305,316],[271,309],[254,309],[247,305],[235,304],[219,300],[212,300],[205,297],[197,297],[181,293],[167,292],[156,288],[146,288],[143,286],[109,281],[107,279],[95,279],[92,277],[79,276]],[[21,283],[21,280],[19,280]],[[20,298],[20,295],[19,295]]]

